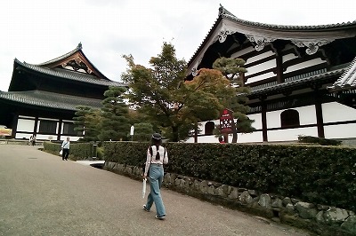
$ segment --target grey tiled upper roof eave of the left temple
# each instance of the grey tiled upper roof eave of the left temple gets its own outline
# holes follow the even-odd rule
[[[125,86],[125,83],[118,83],[110,80],[98,79],[93,75],[87,75],[80,72],[64,70],[60,68],[48,68],[48,67],[38,67],[36,65],[28,64],[26,62],[20,62],[20,60],[15,59],[15,63],[19,64],[22,67],[27,67],[30,70],[46,74],[57,76],[61,78],[66,78],[73,81],[84,82],[84,83],[93,83],[104,86]]]

